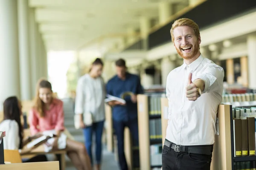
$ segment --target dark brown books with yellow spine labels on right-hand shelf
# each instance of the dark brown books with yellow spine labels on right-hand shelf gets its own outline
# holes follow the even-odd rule
[[[235,108],[233,116],[234,156],[255,156],[256,108]]]

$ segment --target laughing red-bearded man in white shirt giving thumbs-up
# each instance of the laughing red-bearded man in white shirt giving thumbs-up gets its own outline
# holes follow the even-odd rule
[[[224,71],[201,55],[200,32],[194,21],[187,18],[176,20],[172,24],[171,36],[184,63],[167,77],[169,122],[162,168],[209,170]]]

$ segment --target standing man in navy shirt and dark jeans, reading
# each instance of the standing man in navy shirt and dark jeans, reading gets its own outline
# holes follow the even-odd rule
[[[116,61],[116,76],[107,83],[107,94],[121,97],[124,92],[132,92],[125,97],[126,104],[118,101],[108,102],[112,106],[113,127],[117,137],[118,159],[121,170],[128,170],[124,153],[124,129],[127,126],[133,136],[133,141],[138,145],[138,120],[137,120],[137,94],[143,94],[140,78],[126,71],[124,59]]]

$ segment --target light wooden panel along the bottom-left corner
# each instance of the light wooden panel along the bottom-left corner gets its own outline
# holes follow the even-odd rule
[[[0,170],[59,170],[58,161],[0,164]]]

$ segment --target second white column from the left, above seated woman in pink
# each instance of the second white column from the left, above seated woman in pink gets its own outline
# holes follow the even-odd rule
[[[21,100],[31,99],[30,53],[29,53],[29,6],[28,0],[18,0],[20,94]]]

